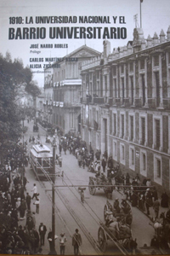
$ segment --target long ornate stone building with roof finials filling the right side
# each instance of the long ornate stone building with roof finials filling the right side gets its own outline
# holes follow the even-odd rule
[[[170,26],[82,63],[82,139],[122,171],[170,189]],[[162,186],[162,187],[161,187]]]

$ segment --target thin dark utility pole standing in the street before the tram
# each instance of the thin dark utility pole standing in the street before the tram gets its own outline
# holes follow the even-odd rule
[[[52,173],[52,248],[49,254],[57,255],[55,250],[55,211],[54,211],[54,204],[55,204],[55,145],[53,145],[53,173]]]

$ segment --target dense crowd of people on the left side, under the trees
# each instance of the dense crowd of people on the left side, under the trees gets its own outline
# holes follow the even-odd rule
[[[25,176],[29,157],[21,143],[8,150],[1,163],[0,178],[0,253],[41,253],[31,195],[26,193]],[[26,225],[20,224],[26,219]]]

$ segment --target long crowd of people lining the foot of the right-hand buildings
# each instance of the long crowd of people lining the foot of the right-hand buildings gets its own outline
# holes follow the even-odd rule
[[[88,150],[89,148],[89,150]],[[104,174],[116,189],[127,196],[127,200],[131,201],[132,207],[139,209],[150,216],[150,207],[153,207],[155,218],[159,217],[159,209],[168,207],[169,197],[165,192],[161,195],[161,201],[158,199],[156,187],[151,183],[150,178],[144,177],[141,180],[139,174],[136,177],[130,177],[129,173],[122,173],[120,164],[108,157],[107,151],[101,154],[99,149],[94,154],[94,149],[86,142],[82,141],[81,137],[74,137],[72,134],[66,134],[59,139],[59,155],[62,149],[66,154],[66,150],[70,151],[77,157],[79,167],[88,167],[88,172]]]

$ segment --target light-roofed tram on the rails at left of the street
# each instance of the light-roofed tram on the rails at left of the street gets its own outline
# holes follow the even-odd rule
[[[46,145],[38,144],[30,149],[31,168],[37,178],[47,179],[47,174],[53,172],[53,154]]]

